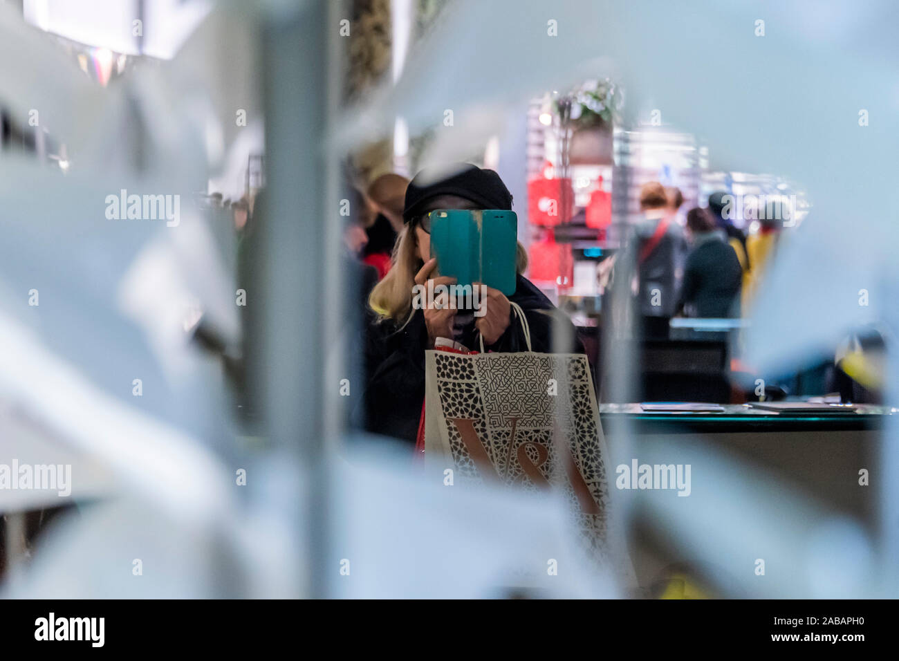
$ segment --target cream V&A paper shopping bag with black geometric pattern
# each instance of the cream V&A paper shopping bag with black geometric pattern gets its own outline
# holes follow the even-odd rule
[[[449,440],[459,478],[489,478],[527,491],[560,489],[583,544],[605,557],[609,494],[586,356],[435,352],[434,357],[441,435]],[[463,439],[455,419],[471,421],[492,468],[478,465],[472,439]],[[586,493],[583,487],[578,492],[569,462]]]

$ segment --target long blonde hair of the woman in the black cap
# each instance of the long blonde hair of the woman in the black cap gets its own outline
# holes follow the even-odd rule
[[[412,288],[415,275],[424,265],[415,254],[416,243],[412,226],[400,230],[390,258],[390,270],[369,294],[369,308],[378,315],[378,321],[391,319],[405,326],[412,318]],[[521,243],[516,244],[515,272],[521,275],[528,268],[528,253]]]

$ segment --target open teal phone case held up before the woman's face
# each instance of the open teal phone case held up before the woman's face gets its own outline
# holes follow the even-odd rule
[[[431,250],[438,270],[456,278],[460,285],[483,282],[511,296],[517,246],[518,216],[514,211],[431,212]]]

